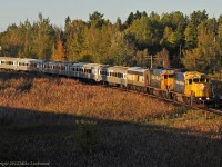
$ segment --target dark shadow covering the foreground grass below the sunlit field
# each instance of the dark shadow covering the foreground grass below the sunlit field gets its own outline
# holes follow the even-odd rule
[[[221,140],[168,127],[0,107],[0,161],[221,166]]]

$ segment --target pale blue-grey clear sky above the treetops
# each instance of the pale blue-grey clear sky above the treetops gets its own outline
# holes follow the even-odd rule
[[[49,18],[52,24],[63,29],[64,20],[89,20],[89,14],[99,11],[104,19],[125,21],[130,12],[152,11],[158,14],[181,11],[190,16],[193,11],[206,10],[210,18],[222,14],[222,0],[0,0],[0,31],[9,24],[38,20],[38,13]]]

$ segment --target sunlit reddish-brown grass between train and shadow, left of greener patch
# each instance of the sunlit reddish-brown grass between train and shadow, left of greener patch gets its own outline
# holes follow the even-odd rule
[[[1,87],[3,107],[125,121],[147,121],[173,109],[139,94],[82,85],[67,78],[8,79],[1,80]]]

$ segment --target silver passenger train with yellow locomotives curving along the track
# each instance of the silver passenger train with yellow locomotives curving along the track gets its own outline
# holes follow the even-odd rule
[[[209,105],[213,102],[206,75],[179,69],[147,69],[88,62],[61,62],[0,57],[0,68],[74,77],[155,95],[174,101]]]

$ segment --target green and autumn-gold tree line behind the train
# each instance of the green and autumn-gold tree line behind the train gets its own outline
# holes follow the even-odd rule
[[[98,11],[89,20],[64,20],[64,29],[39,13],[36,22],[8,26],[0,56],[222,72],[222,16],[131,12],[114,23]]]

